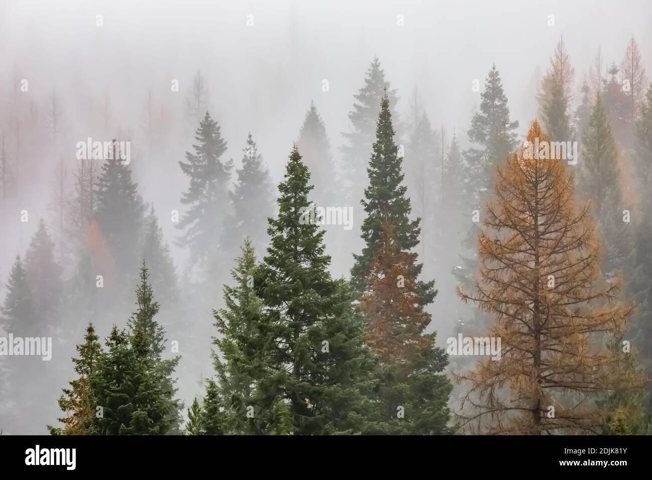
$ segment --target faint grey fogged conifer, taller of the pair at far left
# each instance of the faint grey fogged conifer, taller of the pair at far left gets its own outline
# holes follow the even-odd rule
[[[61,266],[55,261],[55,244],[41,219],[25,254],[25,272],[35,311],[50,330],[57,327],[60,314],[63,295],[61,271]]]

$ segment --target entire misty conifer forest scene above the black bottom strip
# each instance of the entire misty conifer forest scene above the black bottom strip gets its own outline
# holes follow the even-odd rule
[[[651,20],[0,2],[0,431],[649,434]]]

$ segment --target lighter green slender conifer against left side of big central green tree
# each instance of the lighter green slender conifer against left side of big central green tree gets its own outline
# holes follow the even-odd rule
[[[213,364],[218,376],[224,412],[219,415],[237,434],[259,434],[265,425],[257,419],[270,408],[259,382],[269,376],[267,355],[273,338],[265,325],[263,304],[254,291],[256,257],[246,239],[237,266],[231,271],[235,286],[224,285],[225,307],[214,311],[219,336],[213,337],[218,351]],[[248,413],[253,413],[253,417]],[[221,423],[221,422],[220,422]]]

